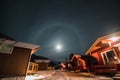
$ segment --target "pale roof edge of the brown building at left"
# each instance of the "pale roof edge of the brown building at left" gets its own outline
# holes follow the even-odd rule
[[[1,47],[0,47],[0,51],[3,52],[3,50],[6,52],[10,52],[13,47],[21,47],[21,48],[26,48],[26,49],[31,49],[31,53],[36,52],[40,46],[36,45],[36,44],[30,44],[30,43],[25,43],[25,42],[17,42],[14,40],[6,40],[3,38],[0,38],[0,43],[1,43]]]

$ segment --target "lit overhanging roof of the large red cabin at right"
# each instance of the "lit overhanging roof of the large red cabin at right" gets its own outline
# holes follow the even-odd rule
[[[91,53],[93,50],[99,49],[102,46],[108,44],[108,41],[110,41],[112,38],[117,38],[120,41],[120,31],[115,32],[106,36],[102,36],[96,39],[96,41],[92,44],[92,46],[86,51],[85,54]]]

